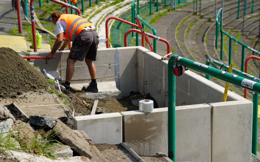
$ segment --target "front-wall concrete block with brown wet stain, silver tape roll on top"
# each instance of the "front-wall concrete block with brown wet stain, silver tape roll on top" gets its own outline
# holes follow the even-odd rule
[[[137,154],[168,154],[168,108],[121,112],[124,142]],[[210,161],[210,106],[176,107],[176,161]]]

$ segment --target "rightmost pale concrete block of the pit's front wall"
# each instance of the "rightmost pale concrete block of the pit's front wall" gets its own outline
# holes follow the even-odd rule
[[[209,105],[211,161],[251,161],[253,103],[241,100]]]

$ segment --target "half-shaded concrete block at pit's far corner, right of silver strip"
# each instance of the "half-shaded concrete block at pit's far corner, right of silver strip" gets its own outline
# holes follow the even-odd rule
[[[129,96],[131,91],[137,91],[137,48],[119,47],[120,91],[122,96]]]

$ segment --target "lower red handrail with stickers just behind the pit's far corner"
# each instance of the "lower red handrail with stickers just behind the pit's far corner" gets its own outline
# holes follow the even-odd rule
[[[127,43],[128,43],[127,42],[127,36],[131,32],[136,32],[136,33],[142,34],[142,32],[140,30],[137,30],[137,29],[129,29],[129,30],[127,30],[126,33],[125,33],[125,36],[124,36],[125,47],[127,47]],[[168,40],[160,38],[160,37],[157,37],[157,36],[154,36],[153,34],[149,34],[149,33],[145,33],[145,35],[150,37],[150,38],[153,38],[153,39],[156,39],[156,40],[164,42],[166,44],[166,46],[167,46],[167,54],[169,54],[171,52],[171,45],[168,42]],[[143,41],[144,40],[142,39],[142,44],[143,44]],[[170,58],[170,55],[168,55],[167,57]]]

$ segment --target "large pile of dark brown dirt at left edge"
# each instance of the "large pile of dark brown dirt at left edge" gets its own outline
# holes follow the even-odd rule
[[[46,89],[47,82],[26,60],[11,48],[0,48],[0,98]]]

